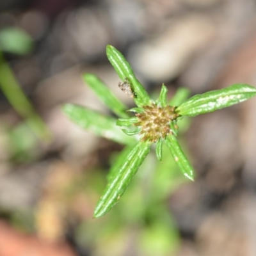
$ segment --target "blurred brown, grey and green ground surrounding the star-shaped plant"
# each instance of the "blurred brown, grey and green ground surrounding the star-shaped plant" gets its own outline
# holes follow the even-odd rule
[[[1,0],[0,255],[256,255],[256,98],[180,125],[195,182],[164,149],[95,220],[123,146],[61,112],[72,102],[109,113],[83,72],[133,106],[107,44],[152,95],[162,83],[169,97],[256,86],[255,14],[253,0]]]

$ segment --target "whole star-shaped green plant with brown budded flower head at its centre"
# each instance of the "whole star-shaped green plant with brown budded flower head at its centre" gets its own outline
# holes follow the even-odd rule
[[[84,74],[84,81],[118,116],[118,119],[74,104],[64,106],[64,111],[69,118],[84,129],[127,145],[109,172],[108,185],[95,208],[95,218],[106,214],[120,200],[132,177],[150,152],[150,146],[153,143],[156,143],[156,156],[159,161],[162,159],[164,142],[180,170],[188,179],[193,180],[193,167],[177,141],[179,128],[177,121],[182,116],[196,116],[212,112],[256,95],[256,89],[253,86],[233,84],[221,90],[195,95],[179,106],[170,106],[166,100],[168,91],[164,84],[159,98],[156,101],[150,99],[124,56],[111,45],[107,46],[106,52],[109,61],[122,80],[118,86],[134,99],[137,107],[127,110],[127,107],[93,74]],[[134,113],[134,116],[131,116],[131,113]]]

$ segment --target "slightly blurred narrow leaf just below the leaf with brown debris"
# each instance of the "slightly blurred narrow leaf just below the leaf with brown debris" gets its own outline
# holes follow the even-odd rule
[[[93,74],[83,74],[84,81],[92,88],[93,92],[99,99],[111,109],[117,116],[127,118],[129,115],[125,113],[127,106],[125,106],[115,95],[109,90],[108,86],[104,84],[99,77]]]

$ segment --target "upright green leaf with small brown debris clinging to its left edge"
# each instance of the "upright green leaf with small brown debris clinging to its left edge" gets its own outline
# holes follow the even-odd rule
[[[131,85],[131,90],[134,93],[134,102],[138,107],[147,106],[150,104],[150,97],[140,81],[136,78],[131,65],[125,60],[121,52],[117,51],[112,45],[106,48],[108,60],[110,61],[116,73],[122,81],[128,81]]]

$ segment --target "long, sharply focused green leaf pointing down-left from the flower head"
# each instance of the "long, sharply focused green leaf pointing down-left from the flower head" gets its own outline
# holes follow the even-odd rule
[[[120,200],[149,151],[150,143],[141,141],[129,151],[122,165],[113,173],[95,208],[94,218],[106,214]]]

